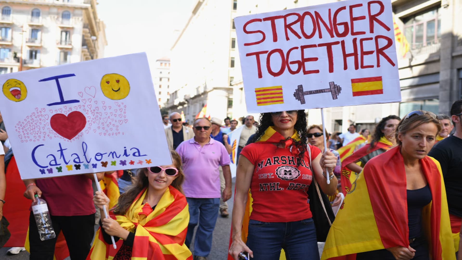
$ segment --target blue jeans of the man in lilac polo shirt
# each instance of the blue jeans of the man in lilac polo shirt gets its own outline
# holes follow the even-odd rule
[[[189,248],[193,240],[194,228],[197,227],[194,240],[194,255],[207,257],[212,248],[212,234],[218,218],[220,198],[186,198],[189,205],[189,224],[186,241]]]

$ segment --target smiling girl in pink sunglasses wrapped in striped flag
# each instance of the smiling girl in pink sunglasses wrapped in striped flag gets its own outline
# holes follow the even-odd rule
[[[171,156],[172,165],[138,171],[134,184],[120,195],[110,217],[102,218],[87,259],[101,260],[109,256],[109,259],[128,260],[136,256],[192,260],[191,252],[184,245],[189,212],[181,188],[184,180],[181,159],[173,150]],[[104,216],[103,207],[108,210],[109,198],[96,192],[93,200]],[[114,236],[118,251],[112,249],[110,235]]]

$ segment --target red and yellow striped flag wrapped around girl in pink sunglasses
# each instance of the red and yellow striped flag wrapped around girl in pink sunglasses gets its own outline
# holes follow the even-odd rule
[[[124,229],[135,233],[132,249],[132,260],[165,259],[192,260],[191,251],[184,244],[188,230],[189,211],[184,195],[169,186],[154,210],[146,203],[142,204],[147,189],[134,199],[125,215],[114,215]],[[101,228],[95,235],[87,260],[112,260],[122,243],[117,243],[117,249],[104,241]]]

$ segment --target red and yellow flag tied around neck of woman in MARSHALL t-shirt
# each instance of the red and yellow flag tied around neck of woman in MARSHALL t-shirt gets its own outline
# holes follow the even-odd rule
[[[298,132],[295,131],[295,133],[291,136],[292,139],[295,141],[300,141],[300,137],[298,137]],[[286,140],[286,148],[287,145],[290,145],[292,143],[292,139]],[[276,132],[272,126],[269,126],[266,130],[263,136],[261,136],[260,140],[256,142],[261,142],[261,143],[280,143],[283,141],[284,138],[280,135],[280,133]],[[284,141],[283,141],[284,142]],[[292,153],[296,153],[295,151],[292,151]],[[236,187],[235,187],[236,189]],[[236,190],[234,191],[236,193]],[[249,234],[249,219],[250,219],[250,213],[252,213],[252,194],[249,193],[247,194],[247,204],[245,205],[244,209],[244,217],[242,219],[242,229],[241,229],[241,238],[244,243],[247,242],[247,234]],[[231,226],[231,233],[230,233],[230,242],[228,249],[231,247],[232,243],[232,226]],[[286,254],[284,253],[284,249],[281,250],[280,254],[280,260],[286,260]],[[228,254],[228,259],[227,260],[233,260],[230,254]]]

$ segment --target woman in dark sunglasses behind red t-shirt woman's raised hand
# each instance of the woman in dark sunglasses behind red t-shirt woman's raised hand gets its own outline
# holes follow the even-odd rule
[[[322,133],[324,132],[324,133]],[[322,131],[322,125],[317,125],[313,124],[308,128],[308,134],[306,136],[308,137],[308,143],[316,146],[319,148],[322,152],[324,152],[324,137],[323,135],[326,136],[326,142],[329,141],[329,134],[327,130]],[[340,161],[340,155],[337,151],[334,149],[328,148],[328,151],[333,153],[335,157],[337,157],[337,163],[335,164],[334,168],[334,174],[335,177],[337,177],[337,189],[340,189],[340,168],[341,168],[341,161]],[[336,192],[335,196],[329,196],[329,200],[332,203],[332,206],[338,206],[340,204],[341,198],[338,192]]]

